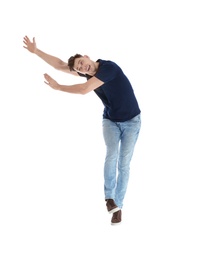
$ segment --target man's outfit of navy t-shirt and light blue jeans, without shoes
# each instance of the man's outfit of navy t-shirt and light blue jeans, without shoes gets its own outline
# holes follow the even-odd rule
[[[119,208],[127,190],[130,162],[140,132],[140,108],[132,85],[122,69],[112,61],[97,60],[94,75],[104,84],[94,92],[104,105],[103,136],[106,144],[104,164],[105,199],[113,199]],[[91,78],[85,76],[87,80]]]

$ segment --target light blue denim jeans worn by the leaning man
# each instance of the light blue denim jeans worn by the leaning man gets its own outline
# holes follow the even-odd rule
[[[103,136],[106,144],[104,194],[105,199],[114,199],[119,208],[123,206],[130,162],[140,127],[140,114],[125,122],[103,119]]]

